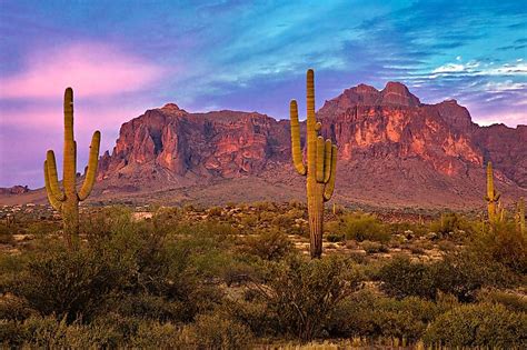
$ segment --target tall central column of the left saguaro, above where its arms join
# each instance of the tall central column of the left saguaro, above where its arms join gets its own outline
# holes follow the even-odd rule
[[[66,89],[64,92],[64,154],[63,177],[66,197],[76,197],[76,144],[73,139],[73,90]]]

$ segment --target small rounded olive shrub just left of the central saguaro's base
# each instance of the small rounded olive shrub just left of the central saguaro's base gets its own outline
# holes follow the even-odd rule
[[[264,260],[279,260],[292,250],[292,243],[279,230],[264,231],[247,239],[247,252]]]

